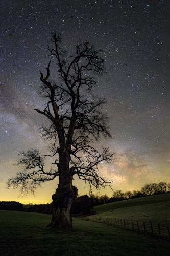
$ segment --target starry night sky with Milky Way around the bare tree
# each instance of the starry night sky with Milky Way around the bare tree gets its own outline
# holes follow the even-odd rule
[[[88,40],[103,49],[106,73],[96,94],[107,99],[115,152],[100,172],[113,189],[140,189],[147,182],[170,182],[169,14],[168,0],[1,0],[0,2],[0,201],[51,202],[57,180],[38,188],[35,197],[6,189],[18,170],[20,150],[45,151],[39,127],[39,72],[48,62],[47,45],[57,30],[71,51]],[[79,195],[88,186],[76,178]],[[94,194],[97,193],[95,190]],[[108,188],[98,195],[112,196]]]

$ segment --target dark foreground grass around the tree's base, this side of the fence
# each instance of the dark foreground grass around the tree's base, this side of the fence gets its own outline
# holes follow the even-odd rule
[[[0,211],[0,255],[170,255],[170,242],[74,219],[74,232],[45,228],[50,216]]]

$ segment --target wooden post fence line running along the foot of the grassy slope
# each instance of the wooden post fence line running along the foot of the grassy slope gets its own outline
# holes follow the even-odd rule
[[[151,234],[158,234],[159,236],[166,236],[170,238],[170,229],[168,224],[160,224],[160,223],[153,223],[152,221],[149,222],[139,222],[131,221],[131,220],[123,220],[117,218],[106,218],[106,217],[95,217],[95,216],[88,216],[84,218],[87,221],[93,222],[100,222],[105,223],[108,225],[121,227],[137,232],[147,232]]]

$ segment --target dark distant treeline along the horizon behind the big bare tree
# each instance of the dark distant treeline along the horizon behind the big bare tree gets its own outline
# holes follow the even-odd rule
[[[162,193],[170,193],[170,183],[159,182],[145,184],[141,190],[133,190],[123,192],[122,190],[116,190],[113,193],[113,197],[109,198],[107,195],[95,196],[95,195],[83,195],[77,197],[76,201],[72,205],[71,212],[73,215],[88,215],[94,214],[93,206],[116,202],[120,200],[127,200],[138,197],[152,196]],[[19,202],[0,202],[0,210],[19,210],[40,212],[44,214],[51,214],[53,210],[52,204],[30,204],[25,207]]]

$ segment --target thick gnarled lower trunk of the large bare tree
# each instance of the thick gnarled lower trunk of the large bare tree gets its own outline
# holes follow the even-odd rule
[[[66,153],[60,155],[59,173],[59,185],[52,196],[52,221],[48,227],[72,230],[71,206],[78,195],[78,190],[72,186],[72,173]]]

